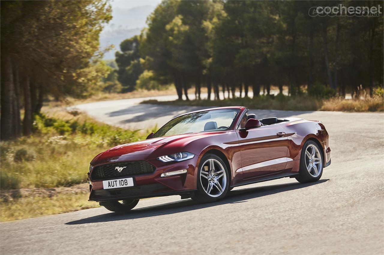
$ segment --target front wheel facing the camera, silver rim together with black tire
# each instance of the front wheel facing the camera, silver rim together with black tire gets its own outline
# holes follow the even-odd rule
[[[220,157],[206,154],[202,157],[197,172],[197,191],[192,199],[199,203],[211,203],[227,194],[230,178],[227,167]]]

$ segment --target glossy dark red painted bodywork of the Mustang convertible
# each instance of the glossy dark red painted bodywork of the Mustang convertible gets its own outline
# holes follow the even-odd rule
[[[91,161],[94,167],[116,162],[146,160],[156,167],[150,174],[134,176],[135,187],[153,187],[151,192],[138,195],[102,197],[96,193],[103,190],[103,180],[88,180],[92,184],[90,200],[107,201],[123,198],[144,198],[190,193],[197,188],[197,169],[201,157],[214,153],[222,157],[230,172],[231,186],[245,185],[268,178],[278,177],[282,173],[299,171],[301,149],[306,140],[313,139],[323,149],[324,166],[330,162],[328,133],[320,121],[308,121],[300,118],[285,118],[286,121],[260,127],[258,120],[249,119],[254,128],[240,130],[240,120],[248,109],[243,106],[212,108],[240,109],[230,130],[199,132],[174,136],[151,138],[123,144],[98,154]],[[203,110],[201,110],[203,111]],[[199,112],[199,111],[196,111]],[[248,124],[247,122],[247,124]],[[180,162],[162,162],[157,159],[177,152],[195,154],[192,159]],[[187,173],[161,177],[162,173],[186,169]],[[124,178],[124,177],[120,177]]]

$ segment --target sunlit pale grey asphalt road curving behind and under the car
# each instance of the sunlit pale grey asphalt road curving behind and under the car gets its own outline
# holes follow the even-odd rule
[[[77,107],[99,120],[122,126],[134,121],[137,127],[195,109],[136,105],[141,100]],[[251,112],[323,121],[332,164],[321,180],[242,186],[211,204],[169,196],[141,200],[129,214],[96,208],[5,222],[0,253],[384,254],[384,114]]]

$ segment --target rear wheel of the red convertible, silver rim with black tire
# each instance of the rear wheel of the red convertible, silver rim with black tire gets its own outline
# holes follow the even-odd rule
[[[323,174],[323,154],[314,141],[306,141],[301,150],[300,170],[296,177],[301,183],[318,181]]]

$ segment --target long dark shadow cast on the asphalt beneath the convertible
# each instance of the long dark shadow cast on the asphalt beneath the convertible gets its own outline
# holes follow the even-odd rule
[[[172,203],[159,204],[154,206],[147,206],[139,209],[133,209],[127,213],[121,212],[110,212],[106,214],[101,214],[98,216],[88,217],[85,219],[79,219],[77,221],[70,221],[65,224],[68,225],[77,225],[77,224],[86,224],[86,223],[95,223],[95,222],[108,222],[108,221],[121,221],[127,219],[139,219],[145,217],[174,214],[185,211],[198,210],[202,208],[207,208],[211,206],[217,206],[220,204],[233,204],[236,206],[237,203],[245,203],[247,199],[259,198],[262,196],[268,196],[280,192],[296,190],[300,188],[305,188],[312,185],[318,185],[328,181],[329,179],[319,180],[313,183],[286,183],[279,185],[269,185],[261,187],[252,187],[252,188],[243,188],[241,190],[232,190],[229,191],[227,196],[215,203],[209,204],[198,204],[192,199],[185,199],[181,201],[176,201]]]

